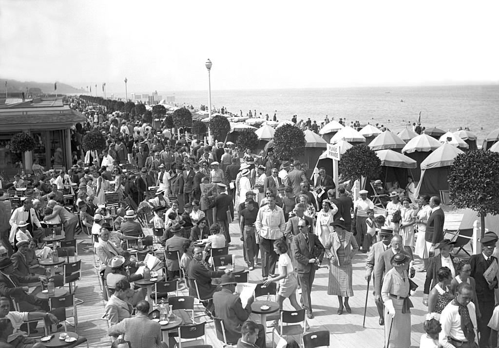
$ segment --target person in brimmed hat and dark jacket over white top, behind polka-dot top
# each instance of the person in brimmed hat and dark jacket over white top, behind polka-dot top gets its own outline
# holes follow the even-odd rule
[[[430,291],[438,284],[437,273],[442,267],[448,267],[451,270],[452,278],[456,277],[457,273],[454,269],[454,255],[451,255],[454,249],[455,242],[450,239],[444,239],[437,244],[435,249],[440,249],[439,255],[435,255],[428,259],[428,268],[426,270],[425,287],[423,291],[423,304],[428,306],[428,296]]]

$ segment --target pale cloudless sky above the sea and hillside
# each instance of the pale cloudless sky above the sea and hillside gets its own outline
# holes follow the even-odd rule
[[[0,77],[107,92],[499,82],[499,1],[0,0]]]

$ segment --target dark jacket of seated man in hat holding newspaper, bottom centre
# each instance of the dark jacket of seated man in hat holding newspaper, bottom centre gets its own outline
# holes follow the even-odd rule
[[[239,295],[234,295],[228,289],[222,289],[213,294],[213,305],[215,317],[224,322],[227,343],[237,343],[241,338],[241,327],[251,314],[250,303],[243,308]]]

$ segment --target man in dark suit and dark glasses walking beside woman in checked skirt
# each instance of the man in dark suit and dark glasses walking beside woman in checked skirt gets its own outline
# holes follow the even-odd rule
[[[296,260],[295,267],[301,286],[301,302],[307,311],[307,318],[312,319],[310,292],[315,279],[315,271],[324,257],[324,247],[315,234],[308,232],[309,228],[307,220],[301,219],[298,222],[298,229],[301,233],[293,238],[292,253]]]

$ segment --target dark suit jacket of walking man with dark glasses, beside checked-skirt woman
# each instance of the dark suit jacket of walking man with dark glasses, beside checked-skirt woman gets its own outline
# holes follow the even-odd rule
[[[310,259],[319,259],[322,262],[324,257],[324,247],[319,241],[319,238],[313,233],[308,233],[308,243],[305,240],[303,233],[297,234],[293,237],[292,253],[296,260],[295,267],[297,273],[310,273],[314,264],[309,264]]]

